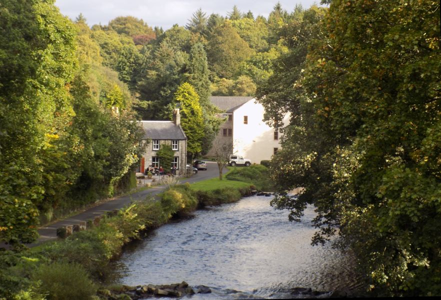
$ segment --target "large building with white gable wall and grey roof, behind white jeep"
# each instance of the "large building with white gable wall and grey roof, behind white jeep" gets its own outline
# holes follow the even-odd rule
[[[252,163],[269,160],[280,148],[280,133],[263,121],[264,108],[253,97],[212,96],[211,103],[223,110],[226,118],[216,139],[233,143],[233,153]],[[285,125],[289,116],[285,116]],[[207,156],[214,156],[212,150]]]

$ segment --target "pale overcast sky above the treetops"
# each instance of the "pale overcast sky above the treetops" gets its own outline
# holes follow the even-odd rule
[[[279,0],[283,9],[291,12],[295,4],[309,8],[320,0]],[[159,26],[164,30],[173,24],[184,26],[193,12],[201,8],[209,16],[218,13],[226,16],[234,5],[241,12],[251,10],[254,17],[267,17],[277,0],[56,0],[62,14],[75,19],[82,13],[89,26],[106,25],[117,16],[131,15],[141,18],[149,26]]]

